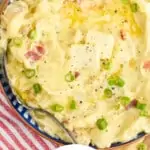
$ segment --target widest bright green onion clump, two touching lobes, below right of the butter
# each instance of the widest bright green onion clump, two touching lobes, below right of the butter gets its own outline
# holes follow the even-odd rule
[[[118,86],[118,87],[123,87],[125,85],[125,82],[123,81],[122,78],[118,77],[118,76],[111,76],[108,78],[108,84],[110,86]]]

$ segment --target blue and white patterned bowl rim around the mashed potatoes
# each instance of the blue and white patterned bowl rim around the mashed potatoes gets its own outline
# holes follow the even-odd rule
[[[6,0],[6,2],[7,1],[8,0]],[[0,0],[0,2],[1,2],[1,0]],[[9,80],[7,79],[6,72],[5,72],[5,69],[4,69],[4,63],[3,63],[3,57],[2,56],[0,56],[0,81],[1,81],[1,84],[2,84],[2,86],[4,88],[4,92],[5,92],[5,94],[8,97],[8,102],[12,106],[12,109],[14,109],[17,112],[17,114],[22,118],[22,120],[30,128],[34,129],[34,131],[36,131],[41,136],[49,139],[50,141],[55,141],[56,143],[58,143],[60,145],[69,144],[69,143],[66,143],[65,141],[63,141],[61,139],[52,137],[51,135],[49,135],[46,132],[44,132],[39,127],[39,125],[35,122],[35,120],[31,117],[31,115],[29,114],[29,111],[18,102],[18,100],[17,100],[18,98],[13,93],[13,91],[11,89],[11,86],[9,84]],[[130,140],[128,142],[125,142],[125,143],[122,143],[122,142],[113,143],[111,145],[111,147],[118,147],[118,146],[122,146],[124,144],[131,143],[131,142],[133,142],[133,141],[135,141],[135,140],[137,140],[137,139],[139,139],[141,137],[144,137],[145,135],[146,135],[146,133],[141,132],[134,139],[132,139],[132,140]],[[94,148],[96,148],[96,147],[94,147]]]

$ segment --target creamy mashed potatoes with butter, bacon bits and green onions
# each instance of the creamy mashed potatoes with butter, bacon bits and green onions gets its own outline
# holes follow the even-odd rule
[[[19,0],[1,25],[13,88],[78,143],[103,148],[150,132],[149,1]],[[34,116],[66,140],[47,117]]]

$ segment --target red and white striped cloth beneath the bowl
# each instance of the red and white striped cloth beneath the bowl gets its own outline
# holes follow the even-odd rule
[[[0,150],[54,150],[56,145],[27,127],[0,90]]]

